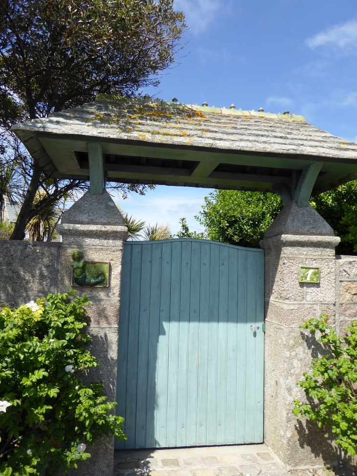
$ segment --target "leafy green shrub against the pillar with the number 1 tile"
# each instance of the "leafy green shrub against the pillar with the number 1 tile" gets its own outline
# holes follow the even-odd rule
[[[346,327],[347,335],[337,336],[328,324],[328,316],[309,319],[300,326],[317,339],[326,355],[312,361],[309,374],[298,382],[309,403],[294,400],[294,415],[315,420],[319,428],[331,427],[335,442],[347,454],[356,454],[357,446],[357,321]]]

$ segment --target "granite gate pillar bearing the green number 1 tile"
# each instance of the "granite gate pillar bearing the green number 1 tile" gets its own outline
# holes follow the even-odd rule
[[[265,250],[264,440],[288,470],[322,466],[334,447],[315,425],[296,418],[296,382],[312,360],[299,325],[326,313],[335,322],[335,246],[340,238],[312,206],[290,201],[260,242]],[[320,268],[320,284],[299,283],[299,267]],[[308,431],[307,431],[308,430]]]

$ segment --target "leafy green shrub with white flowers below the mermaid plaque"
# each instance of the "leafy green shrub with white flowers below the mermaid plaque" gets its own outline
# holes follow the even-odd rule
[[[125,438],[103,383],[80,380],[98,363],[82,333],[90,303],[74,294],[0,310],[1,475],[63,473],[90,457],[86,445],[111,434]]]

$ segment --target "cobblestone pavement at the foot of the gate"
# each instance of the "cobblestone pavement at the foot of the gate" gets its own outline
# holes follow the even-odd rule
[[[287,472],[268,446],[116,450],[115,476],[324,475],[322,470]]]

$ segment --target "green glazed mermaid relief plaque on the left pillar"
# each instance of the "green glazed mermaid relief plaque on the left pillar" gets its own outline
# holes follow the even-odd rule
[[[109,286],[109,261],[86,261],[82,251],[71,252],[72,286]]]

